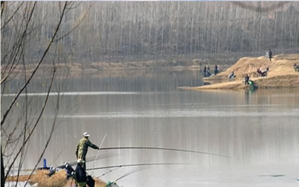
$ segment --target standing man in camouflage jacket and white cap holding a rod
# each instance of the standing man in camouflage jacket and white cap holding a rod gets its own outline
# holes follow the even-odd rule
[[[84,170],[86,169],[85,161],[86,161],[86,154],[88,151],[88,147],[91,147],[93,149],[99,150],[100,148],[93,143],[90,142],[89,134],[87,132],[83,133],[83,138],[79,141],[76,147],[76,158],[81,159],[83,162],[83,168]]]

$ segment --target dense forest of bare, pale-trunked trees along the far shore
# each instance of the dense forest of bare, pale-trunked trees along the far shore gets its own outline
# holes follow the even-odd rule
[[[5,11],[1,25],[16,7],[25,8],[23,2],[7,3],[11,11]],[[25,51],[32,63],[53,35],[57,6],[36,5],[30,22],[32,39],[26,41],[30,50]],[[1,46],[5,46],[1,54],[19,34],[22,11],[16,15],[1,31]],[[63,17],[57,39],[61,60],[80,63],[240,57],[264,55],[268,48],[276,54],[295,53],[299,52],[299,3],[74,2]]]

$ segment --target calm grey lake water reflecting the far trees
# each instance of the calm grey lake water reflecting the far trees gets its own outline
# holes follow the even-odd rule
[[[155,147],[222,155],[150,149],[100,151],[96,168],[168,163],[122,167],[103,177],[113,181],[135,172],[119,180],[120,186],[298,187],[299,89],[176,89],[202,85],[200,79],[196,71],[156,71],[62,81],[64,100],[44,158],[54,166],[74,162],[83,132],[97,145],[107,133],[103,148]],[[11,83],[12,93],[17,84]],[[41,102],[46,84],[35,80],[29,98]],[[11,98],[1,97],[1,112]],[[34,166],[45,144],[56,98],[54,93],[50,96],[30,141],[24,169]],[[90,148],[87,157],[96,154]],[[94,163],[90,160],[87,168]],[[106,171],[96,170],[95,174]]]

